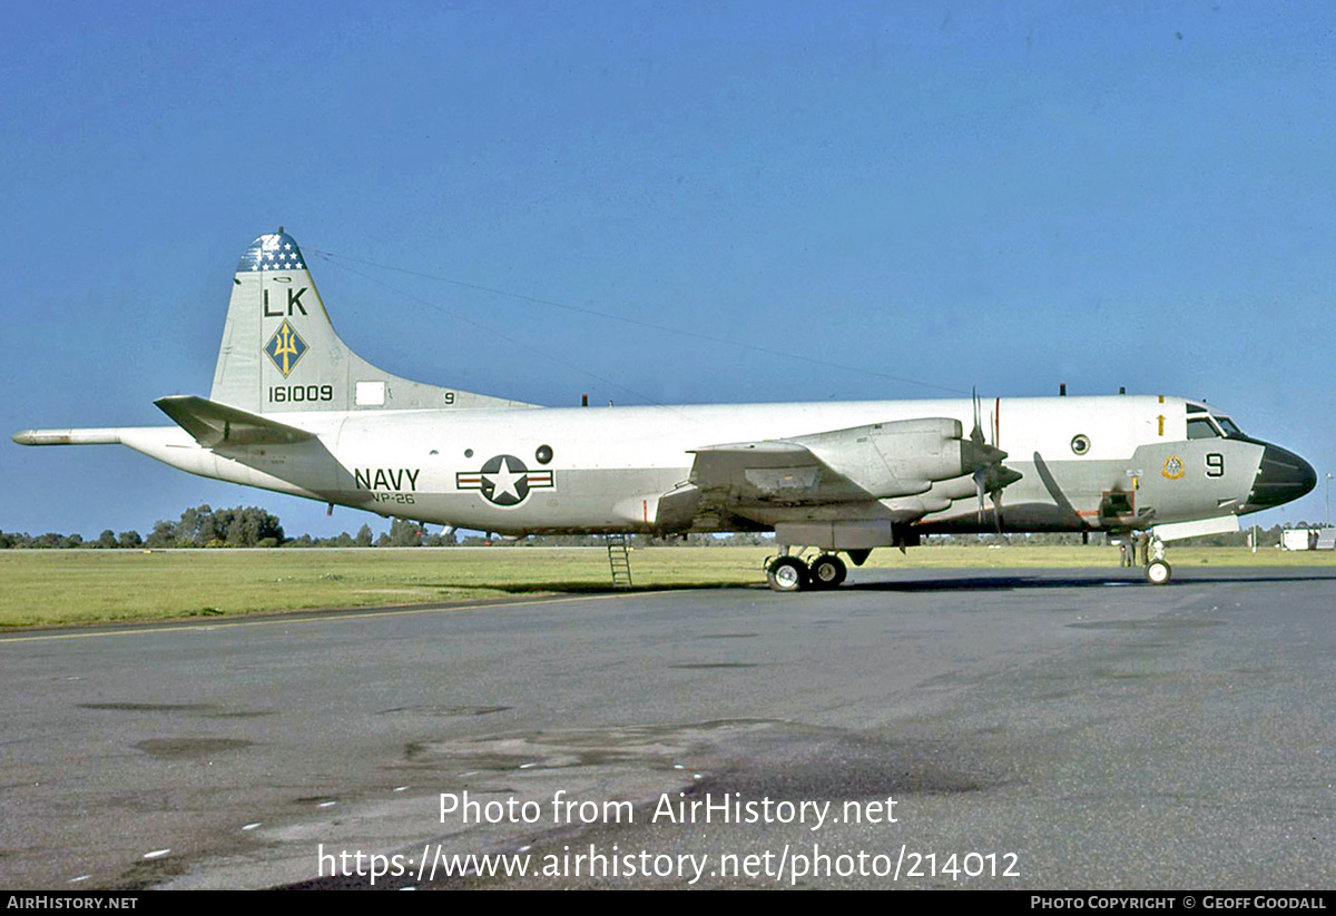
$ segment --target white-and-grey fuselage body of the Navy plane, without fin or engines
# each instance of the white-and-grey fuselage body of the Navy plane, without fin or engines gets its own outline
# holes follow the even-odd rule
[[[1253,498],[1267,449],[1194,438],[1181,398],[1005,398],[985,402],[989,439],[1021,479],[1005,490],[1003,530],[1126,530],[1265,507]],[[660,501],[689,483],[693,451],[782,441],[922,417],[974,423],[970,401],[570,407],[286,414],[315,433],[293,445],[206,449],[176,427],[115,430],[118,441],[220,479],[502,534],[672,533],[774,527],[850,517],[852,501],[758,499],[711,523],[667,517]],[[1288,454],[1288,453],[1285,453]],[[912,511],[910,511],[912,509]],[[927,509],[925,513],[923,509]],[[915,518],[916,530],[993,530],[969,475],[922,494],[858,503],[852,521]]]

